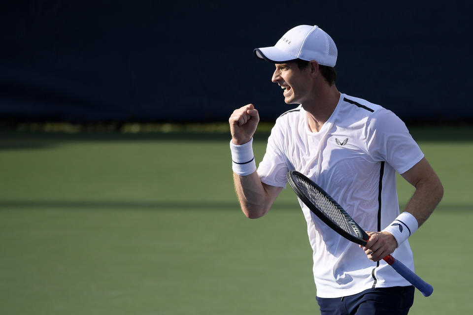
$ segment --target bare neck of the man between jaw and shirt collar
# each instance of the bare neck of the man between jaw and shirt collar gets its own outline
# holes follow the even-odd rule
[[[312,132],[318,132],[332,116],[340,99],[340,92],[338,92],[335,84],[332,86],[325,86],[320,89],[317,95],[311,100],[304,102],[302,107],[307,112],[307,122]]]

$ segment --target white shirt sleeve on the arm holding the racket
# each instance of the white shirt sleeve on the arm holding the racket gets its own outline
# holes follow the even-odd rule
[[[368,153],[372,158],[386,161],[399,174],[424,158],[404,122],[390,110],[374,113],[367,122],[366,133]]]

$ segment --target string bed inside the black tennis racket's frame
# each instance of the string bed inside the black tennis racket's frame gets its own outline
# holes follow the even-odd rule
[[[324,215],[338,225],[348,234],[351,234],[355,237],[360,237],[353,225],[347,221],[347,218],[343,212],[339,209],[338,205],[329,199],[325,194],[321,193],[319,190],[314,189],[310,183],[307,183],[301,178],[296,178],[299,188],[304,192],[304,195],[307,196],[309,201],[319,209]]]

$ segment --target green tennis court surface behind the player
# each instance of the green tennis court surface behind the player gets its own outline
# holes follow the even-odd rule
[[[445,196],[409,240],[434,286],[409,314],[468,314],[473,128],[413,128]],[[268,134],[255,136],[261,160]],[[294,193],[246,219],[227,133],[0,133],[1,314],[318,314]],[[399,181],[400,202],[413,189]]]

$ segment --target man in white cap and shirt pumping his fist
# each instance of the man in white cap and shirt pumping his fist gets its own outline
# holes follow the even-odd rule
[[[371,236],[351,243],[300,202],[310,245],[317,302],[322,314],[407,314],[414,288],[382,259],[393,253],[414,268],[407,237],[434,211],[443,188],[439,178],[391,111],[344,95],[335,85],[337,47],[317,26],[300,25],[274,47],[255,49],[275,64],[271,81],[287,104],[268,139],[256,171],[252,136],[259,122],[253,104],[229,119],[236,194],[248,218],[265,215],[286,174],[295,169],[326,190]],[[415,187],[400,214],[396,172]]]

